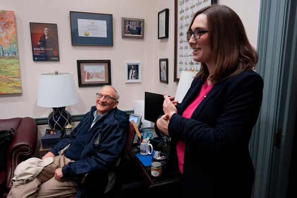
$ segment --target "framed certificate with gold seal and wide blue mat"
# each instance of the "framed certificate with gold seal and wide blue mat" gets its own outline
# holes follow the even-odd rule
[[[112,14],[70,11],[71,43],[113,46]]]

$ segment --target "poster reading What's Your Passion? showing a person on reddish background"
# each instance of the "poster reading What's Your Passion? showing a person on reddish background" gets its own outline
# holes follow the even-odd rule
[[[54,23],[30,22],[33,61],[59,61],[58,31]]]

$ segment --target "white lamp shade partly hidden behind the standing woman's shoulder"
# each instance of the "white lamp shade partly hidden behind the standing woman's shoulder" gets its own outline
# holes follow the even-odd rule
[[[197,71],[182,71],[174,100],[178,100],[179,103],[183,101],[197,73]]]

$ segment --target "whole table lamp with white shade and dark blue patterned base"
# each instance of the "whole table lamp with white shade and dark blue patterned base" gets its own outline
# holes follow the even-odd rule
[[[37,105],[53,108],[48,117],[51,129],[64,131],[65,126],[72,122],[72,116],[65,108],[77,102],[72,73],[40,74]]]

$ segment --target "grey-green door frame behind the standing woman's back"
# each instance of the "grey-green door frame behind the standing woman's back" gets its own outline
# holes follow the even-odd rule
[[[261,0],[257,72],[264,90],[250,141],[253,198],[286,198],[297,109],[296,7],[296,0]],[[278,129],[283,135],[280,148],[274,146]]]

